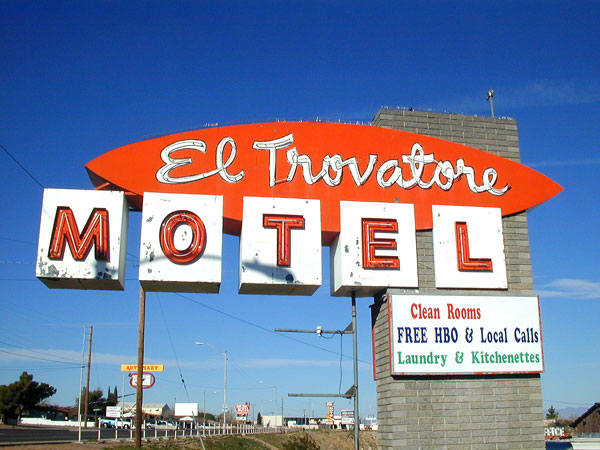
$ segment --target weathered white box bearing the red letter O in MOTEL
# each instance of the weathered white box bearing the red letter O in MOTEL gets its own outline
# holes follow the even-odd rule
[[[219,292],[223,197],[144,194],[139,279],[147,291]]]

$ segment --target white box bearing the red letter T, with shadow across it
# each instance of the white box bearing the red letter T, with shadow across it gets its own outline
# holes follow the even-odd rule
[[[312,295],[321,264],[319,200],[244,197],[240,294]]]

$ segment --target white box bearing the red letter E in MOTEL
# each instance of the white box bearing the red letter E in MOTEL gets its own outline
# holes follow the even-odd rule
[[[331,248],[332,295],[418,287],[414,205],[342,201],[340,222]]]

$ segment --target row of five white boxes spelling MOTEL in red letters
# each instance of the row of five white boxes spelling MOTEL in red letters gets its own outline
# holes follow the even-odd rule
[[[138,277],[147,291],[219,291],[222,205],[221,196],[145,194]],[[339,208],[331,294],[417,288],[413,205],[342,201]],[[44,283],[123,288],[123,192],[47,189],[43,211],[37,275]],[[433,205],[432,215],[438,287],[506,287],[498,208]],[[319,200],[244,198],[240,293],[311,295],[322,284],[321,261]]]

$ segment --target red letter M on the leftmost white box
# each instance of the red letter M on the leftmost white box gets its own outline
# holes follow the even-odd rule
[[[81,233],[71,208],[59,206],[56,208],[52,241],[48,257],[62,259],[65,253],[65,243],[76,261],[83,261],[95,246],[95,256],[98,261],[110,260],[110,246],[108,239],[108,211],[104,208],[94,208]]]

